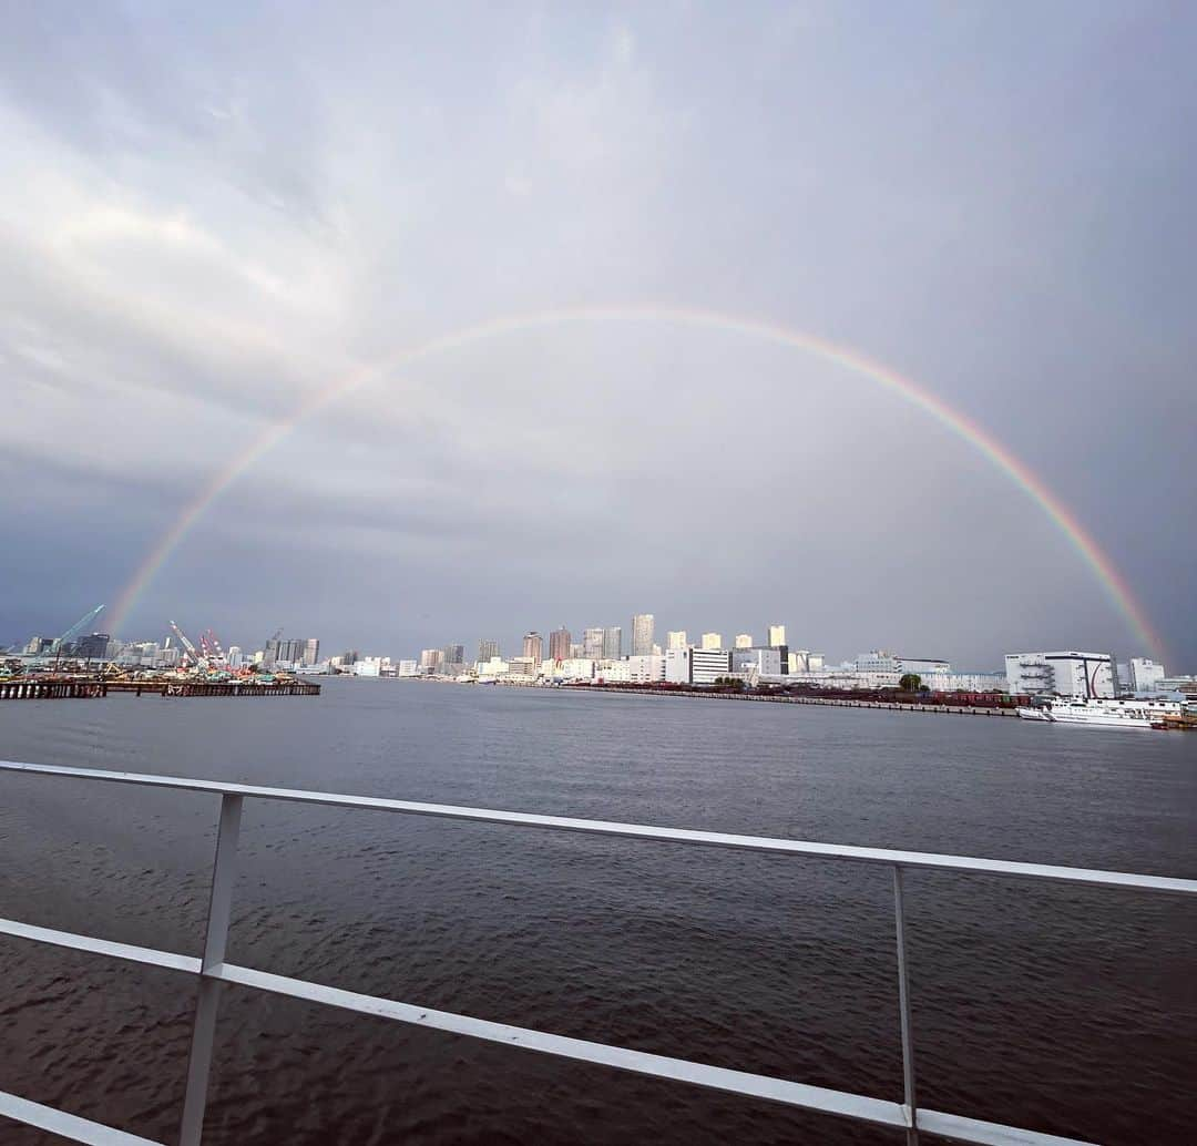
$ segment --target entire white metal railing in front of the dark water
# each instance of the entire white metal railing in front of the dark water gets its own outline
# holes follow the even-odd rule
[[[77,780],[110,781],[139,784],[147,788],[174,788],[203,792],[220,796],[220,821],[217,833],[215,861],[212,873],[212,897],[208,905],[207,932],[201,958],[110,942],[89,935],[34,927],[14,920],[0,918],[0,934],[54,944],[74,951],[108,956],[132,963],[182,971],[199,978],[195,1020],[192,1030],[192,1051],[187,1073],[187,1093],[183,1099],[180,1146],[199,1146],[203,1129],[207,1102],[208,1073],[212,1065],[212,1043],[215,1031],[220,992],[225,983],[253,987],[257,990],[288,995],[326,1006],[357,1011],[381,1018],[432,1027],[455,1035],[504,1043],[524,1050],[582,1062],[597,1063],[655,1078],[688,1083],[713,1090],[729,1091],[753,1098],[764,1098],[839,1115],[859,1122],[904,1132],[907,1146],[918,1142],[919,1133],[942,1135],[966,1142],[991,1146],[1077,1146],[1076,1139],[1065,1139],[1034,1130],[994,1122],[983,1122],[962,1115],[928,1110],[918,1105],[915,1078],[915,1036],[911,1025],[910,983],[906,960],[906,922],[903,902],[903,873],[909,868],[959,872],[966,875],[996,875],[1016,879],[1050,880],[1053,883],[1084,884],[1095,887],[1117,887],[1128,891],[1163,892],[1197,896],[1197,880],[1163,875],[1136,875],[1126,872],[1102,872],[1075,867],[1055,867],[1044,863],[1017,863],[1007,860],[979,860],[967,856],[936,855],[925,851],[893,851],[883,848],[852,848],[841,844],[810,843],[800,839],[774,839],[764,836],[737,836],[725,832],[688,831],[679,827],[654,827],[644,824],[620,824],[606,820],[570,819],[558,815],[534,815],[525,812],[498,812],[490,808],[454,807],[440,804],[414,804],[407,800],[385,800],[373,796],[352,796],[340,793],[300,792],[288,788],[263,788],[255,784],[223,783],[213,780],[190,780],[177,776],[151,776],[138,772],[102,771],[86,768],[63,768],[47,764],[23,764],[0,760],[0,770],[38,776],[67,776]],[[808,1086],[764,1074],[749,1074],[723,1067],[706,1066],[685,1059],[648,1054],[625,1047],[566,1038],[543,1031],[491,1023],[463,1014],[433,1011],[407,1002],[396,1002],[375,995],[324,987],[304,980],[272,975],[225,962],[225,944],[232,905],[232,887],[237,865],[237,837],[241,812],[245,799],[282,800],[294,804],[316,804],[332,807],[363,808],[379,812],[400,812],[407,815],[431,815],[443,819],[475,820],[508,824],[517,827],[540,827],[554,831],[578,831],[598,836],[621,836],[668,843],[701,844],[717,848],[737,848],[783,855],[814,856],[825,860],[847,860],[858,863],[883,865],[893,872],[894,926],[898,945],[898,1003],[901,1029],[903,1100],[873,1098],[847,1091]],[[0,1091],[0,1116],[60,1134],[63,1138],[92,1146],[158,1146],[148,1139],[127,1134],[98,1122],[63,1114],[49,1106],[18,1098]]]

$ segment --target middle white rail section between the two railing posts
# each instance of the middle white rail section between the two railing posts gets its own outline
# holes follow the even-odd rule
[[[748,1074],[743,1071],[712,1067],[686,1059],[670,1059],[666,1055],[612,1047],[607,1043],[593,1043],[582,1038],[569,1038],[564,1035],[547,1035],[523,1026],[509,1026],[505,1023],[491,1023],[486,1019],[454,1014],[449,1011],[417,1007],[407,1002],[395,1002],[375,995],[361,995],[352,990],[324,987],[320,983],[272,975],[268,971],[255,971],[251,968],[229,963],[221,964],[208,974],[221,982],[236,983],[239,987],[251,987],[277,995],[288,995],[292,999],[303,999],[308,1002],[340,1007],[345,1011],[357,1011],[360,1014],[372,1014],[376,1018],[409,1023],[414,1026],[464,1035],[469,1038],[481,1038],[492,1043],[503,1043],[506,1047],[523,1050],[536,1050],[559,1059],[575,1059],[597,1066],[614,1067],[619,1071],[631,1071],[636,1074],[649,1074],[676,1083],[730,1091],[749,1098],[762,1098],[881,1126],[905,1128],[910,1124],[900,1103],[887,1102],[882,1098],[868,1098],[864,1095],[852,1095],[822,1086],[808,1086],[804,1083],[791,1083],[767,1074]]]

